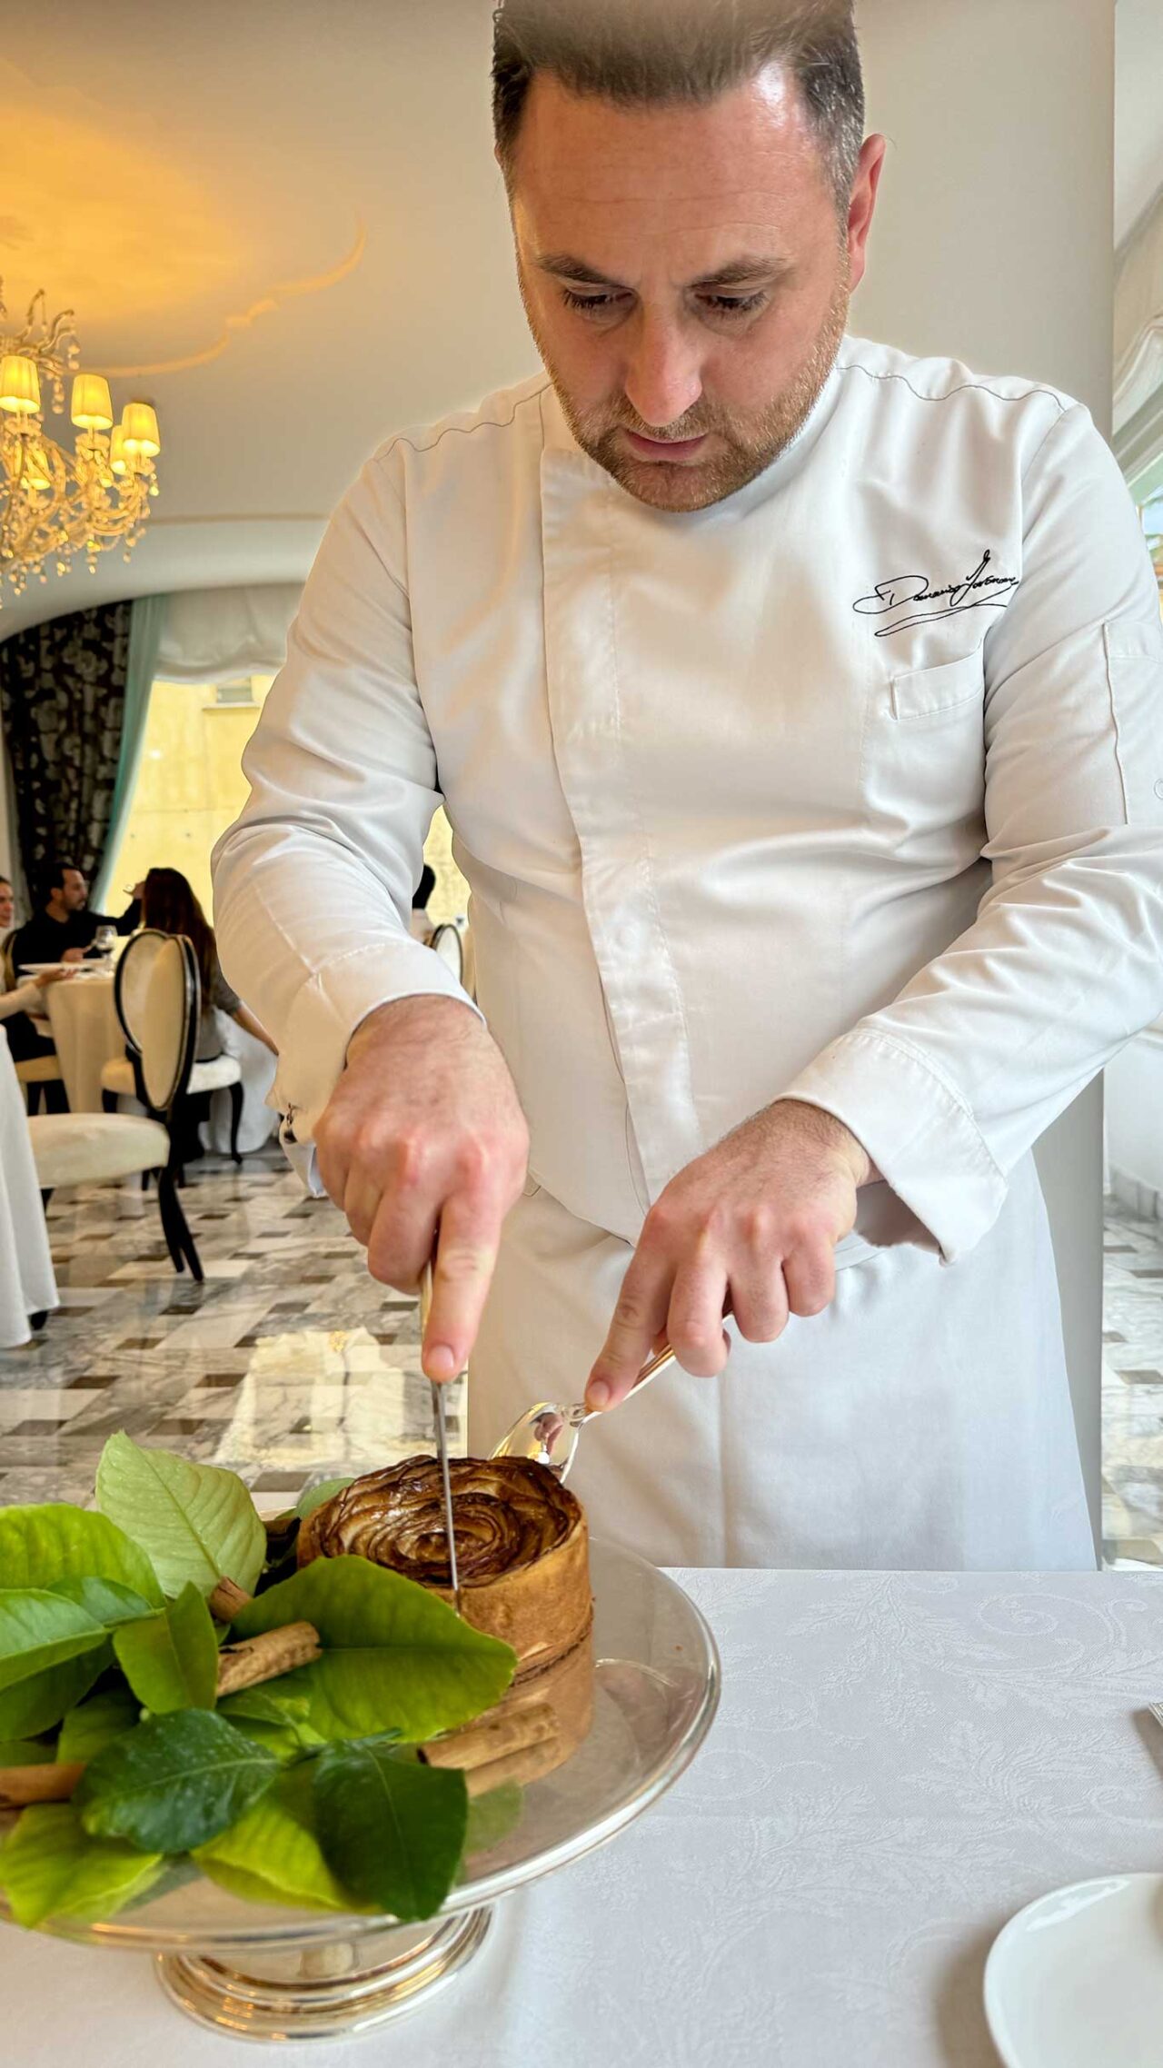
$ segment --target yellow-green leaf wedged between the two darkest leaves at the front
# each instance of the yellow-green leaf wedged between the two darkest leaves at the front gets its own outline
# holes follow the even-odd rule
[[[310,1766],[279,1774],[273,1789],[209,1845],[199,1867],[250,1903],[302,1903],[306,1909],[352,1911],[354,1896],[335,1880],[319,1849]]]

